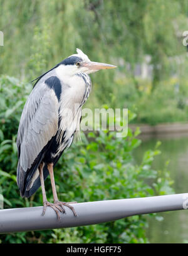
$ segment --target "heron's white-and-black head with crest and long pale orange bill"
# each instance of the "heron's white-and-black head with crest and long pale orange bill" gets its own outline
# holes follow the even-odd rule
[[[87,74],[97,72],[102,69],[116,68],[116,66],[90,61],[87,55],[80,49],[76,49],[77,54],[73,54],[61,61],[59,68],[65,75],[75,75],[76,73],[85,72]]]

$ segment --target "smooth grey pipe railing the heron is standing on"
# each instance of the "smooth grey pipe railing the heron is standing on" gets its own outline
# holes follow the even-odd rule
[[[78,227],[133,215],[185,210],[188,208],[188,193],[75,203],[73,206],[78,216],[75,217],[65,206],[66,214],[60,213],[60,221],[50,207],[44,216],[41,215],[43,206],[0,210],[0,233]]]

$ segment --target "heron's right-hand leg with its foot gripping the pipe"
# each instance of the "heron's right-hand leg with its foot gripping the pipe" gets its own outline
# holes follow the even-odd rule
[[[73,206],[70,205],[70,203],[61,202],[58,200],[58,195],[57,195],[56,186],[55,186],[55,178],[54,178],[54,174],[53,174],[53,163],[48,164],[48,171],[50,173],[51,188],[52,188],[52,192],[53,192],[53,200],[54,200],[55,206],[61,206],[63,213],[65,213],[64,206],[67,206],[68,208],[71,209],[71,211],[73,211],[73,214],[75,216],[77,216],[75,209],[73,208]],[[72,203],[75,203],[75,202],[72,202]]]

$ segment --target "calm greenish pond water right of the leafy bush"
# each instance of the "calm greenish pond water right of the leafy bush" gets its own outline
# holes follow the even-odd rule
[[[153,167],[164,169],[165,162],[170,160],[168,169],[174,180],[172,185],[175,193],[188,192],[188,134],[160,137],[140,137],[141,146],[135,151],[138,163],[143,152],[154,149],[157,141],[161,141],[162,154],[155,157]],[[188,210],[160,213],[164,220],[159,221],[155,216],[147,215],[149,228],[147,237],[151,243],[188,243]]]

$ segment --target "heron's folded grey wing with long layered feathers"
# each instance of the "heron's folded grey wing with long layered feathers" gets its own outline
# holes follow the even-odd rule
[[[58,131],[58,98],[45,82],[38,83],[24,105],[18,129],[19,169],[29,172],[43,148]],[[18,170],[19,171],[19,170]],[[24,177],[26,174],[23,175]],[[23,183],[18,175],[18,185]]]

